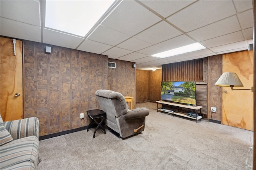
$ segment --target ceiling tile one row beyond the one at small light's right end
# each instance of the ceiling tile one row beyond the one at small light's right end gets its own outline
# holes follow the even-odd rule
[[[224,52],[224,51],[230,51],[230,50],[233,50],[233,49],[248,49],[248,45],[245,41],[239,41],[239,42],[236,42],[236,43],[231,43],[231,44],[227,44],[227,45],[221,45],[221,46],[218,46],[218,47],[213,47],[213,48],[210,48],[210,50],[212,50],[214,53],[221,53],[221,52]],[[238,51],[238,50],[237,50]]]

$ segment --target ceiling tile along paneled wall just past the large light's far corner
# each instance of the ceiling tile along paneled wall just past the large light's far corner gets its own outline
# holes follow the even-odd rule
[[[113,46],[111,45],[106,45],[106,44],[102,44],[96,41],[91,41],[89,39],[86,39],[77,49],[81,51],[87,51],[90,53],[101,54],[112,47]]]

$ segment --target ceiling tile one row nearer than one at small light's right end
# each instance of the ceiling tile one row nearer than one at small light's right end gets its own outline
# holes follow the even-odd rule
[[[220,29],[221,28],[221,29]],[[214,37],[219,37],[228,33],[241,30],[239,22],[236,16],[226,18],[210,25],[206,25],[194,31],[188,33],[191,37],[197,41],[204,41]]]

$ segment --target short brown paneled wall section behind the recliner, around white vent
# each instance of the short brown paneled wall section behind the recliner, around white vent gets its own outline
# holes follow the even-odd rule
[[[116,59],[108,61],[116,63],[116,68],[108,68],[108,90],[134,97],[132,108],[136,108],[136,69],[132,68],[135,63]]]

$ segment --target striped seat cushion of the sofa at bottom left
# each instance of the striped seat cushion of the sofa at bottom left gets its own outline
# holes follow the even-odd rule
[[[40,162],[38,145],[39,141],[36,136],[24,137],[2,145],[0,150],[0,169],[19,167],[22,164],[28,166],[28,163],[34,164],[31,165],[32,169],[33,167],[36,168]]]

